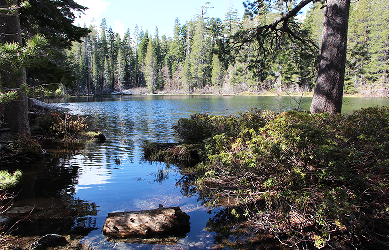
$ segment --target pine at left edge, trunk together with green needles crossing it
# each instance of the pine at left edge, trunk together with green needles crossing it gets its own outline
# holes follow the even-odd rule
[[[4,125],[11,133],[30,135],[30,125],[27,115],[26,88],[26,57],[39,51],[38,40],[29,41],[23,47],[18,1],[0,0],[0,83],[7,91],[15,93],[15,97],[4,105]],[[5,12],[5,13],[4,13]],[[34,45],[35,44],[35,45]],[[34,48],[35,47],[35,48]],[[0,95],[3,94],[0,89]]]

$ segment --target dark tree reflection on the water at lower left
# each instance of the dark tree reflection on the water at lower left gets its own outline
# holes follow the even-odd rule
[[[23,179],[12,190],[18,194],[14,207],[34,207],[28,220],[18,223],[14,234],[19,236],[42,236],[88,233],[96,229],[98,206],[94,202],[76,199],[78,164],[70,164],[71,155],[51,158],[23,166]],[[22,219],[26,214],[12,214]],[[80,218],[83,217],[84,219]],[[77,227],[78,225],[78,227]]]

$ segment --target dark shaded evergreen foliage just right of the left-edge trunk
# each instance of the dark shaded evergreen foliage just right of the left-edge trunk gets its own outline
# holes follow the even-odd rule
[[[45,48],[48,56],[42,56],[39,63],[29,67],[26,75],[27,82],[30,86],[61,82],[71,87],[74,78],[72,72],[67,69],[66,50],[71,49],[73,42],[82,42],[88,35],[89,30],[86,26],[78,27],[74,23],[77,13],[83,13],[87,8],[74,0],[28,0],[26,2],[30,7],[24,8],[19,16],[23,41],[32,38],[35,34],[41,34],[46,37],[48,43]],[[50,89],[55,90],[57,86],[50,85]]]

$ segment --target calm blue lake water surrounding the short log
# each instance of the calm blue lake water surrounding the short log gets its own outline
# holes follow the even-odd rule
[[[301,106],[309,109],[311,98]],[[276,112],[296,108],[290,98],[258,96],[109,96],[60,100],[73,114],[89,115],[106,136],[82,150],[48,145],[51,158],[24,170],[14,206],[35,207],[17,233],[25,237],[79,232],[82,243],[100,249],[213,249],[224,239],[228,210],[206,207],[178,166],[143,159],[144,143],[176,142],[172,126],[195,113],[230,115],[251,108]],[[384,98],[345,98],[343,112],[389,105]],[[120,162],[120,163],[119,163]],[[174,245],[107,241],[101,229],[110,212],[179,206],[191,231]],[[227,212],[226,212],[227,211]],[[242,236],[247,237],[247,236]],[[223,245],[217,245],[223,246]],[[229,249],[229,247],[225,247]]]

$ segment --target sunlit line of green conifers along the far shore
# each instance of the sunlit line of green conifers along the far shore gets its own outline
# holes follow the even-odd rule
[[[206,3],[193,19],[174,22],[173,37],[143,31],[138,25],[124,37],[108,28],[103,18],[91,25],[83,42],[68,50],[68,67],[76,79],[74,93],[109,93],[147,88],[149,93],[236,94],[265,91],[308,92],[315,86],[323,23],[323,3],[310,6],[301,21],[301,34],[313,46],[288,39],[264,37],[238,52],[230,37],[239,31],[271,23],[284,11],[278,4],[263,8],[254,17],[238,17],[229,4],[224,19],[210,18]],[[389,2],[359,0],[351,5],[345,93],[387,96],[389,92]],[[85,28],[85,27],[84,27]],[[259,45],[260,44],[260,45]],[[261,50],[261,64],[255,53]]]

